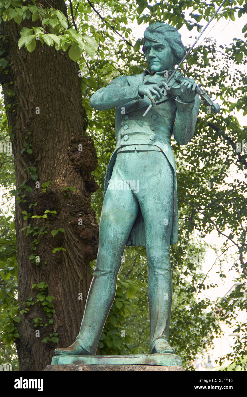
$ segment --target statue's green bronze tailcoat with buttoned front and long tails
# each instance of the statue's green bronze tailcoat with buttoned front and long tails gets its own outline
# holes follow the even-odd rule
[[[103,199],[120,148],[135,145],[140,150],[140,145],[155,145],[166,156],[174,175],[174,210],[170,237],[170,245],[172,245],[178,241],[178,200],[176,164],[170,138],[173,134],[174,139],[180,145],[185,145],[192,139],[199,112],[199,96],[196,95],[193,102],[182,102],[179,96],[180,83],[171,80],[169,85],[172,85],[172,88],[168,94],[164,94],[144,118],[142,115],[149,106],[150,100],[147,96],[139,95],[138,87],[141,84],[155,84],[166,80],[164,72],[152,74],[149,69],[139,75],[119,76],[107,87],[96,91],[90,98],[90,105],[97,110],[116,108],[117,145],[108,164]],[[144,219],[140,211],[126,245],[145,247]]]

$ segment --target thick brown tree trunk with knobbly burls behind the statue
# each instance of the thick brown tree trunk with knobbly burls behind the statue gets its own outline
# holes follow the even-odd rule
[[[64,1],[52,5],[66,14]],[[21,187],[15,202],[18,301],[20,310],[25,310],[20,314],[16,339],[21,371],[43,370],[56,347],[67,347],[75,340],[91,282],[89,261],[96,258],[98,250],[98,224],[90,205],[91,192],[98,188],[90,174],[97,159],[93,141],[84,135],[87,119],[79,67],[68,51],[49,48],[39,40],[30,54],[24,47],[19,50],[19,32],[34,24],[25,20],[17,25],[11,20],[0,25],[2,56],[9,63],[4,69],[8,74],[2,71],[0,78],[12,126],[16,189],[23,182],[28,189]],[[8,90],[15,95],[10,96]],[[22,152],[23,148],[32,152]],[[28,167],[35,167],[36,172]],[[36,181],[31,173],[38,175]],[[48,181],[50,185],[42,187]],[[56,213],[31,218],[43,216],[46,210]],[[30,214],[26,220],[23,211]],[[29,224],[29,229],[22,230]],[[38,229],[26,236],[36,226]],[[60,228],[65,233],[58,231],[53,237],[51,231]],[[53,253],[56,247],[66,251]],[[31,255],[35,258],[29,259]],[[42,282],[48,287],[32,288]],[[50,303],[44,296],[51,295],[55,299]],[[40,320],[34,321],[37,318]],[[55,339],[42,342],[54,333],[58,333],[58,343]]]

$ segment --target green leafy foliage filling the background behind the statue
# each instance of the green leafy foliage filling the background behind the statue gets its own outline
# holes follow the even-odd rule
[[[72,8],[67,11],[68,17],[34,1],[25,3],[28,5],[23,6],[18,0],[0,1],[3,21],[12,18],[20,23],[25,18],[32,18],[34,22],[32,29],[22,29],[19,46],[24,45],[31,52],[35,50],[36,37],[39,37],[44,45],[55,45],[57,50],[66,51],[70,48],[69,56],[78,61],[82,103],[89,119],[88,134],[93,137],[98,152],[99,165],[94,176],[100,189],[94,193],[92,204],[99,220],[105,172],[115,147],[114,110],[94,111],[90,107],[89,98],[94,91],[118,75],[138,74],[146,67],[141,52],[142,39],[136,40],[130,23],[137,22],[141,25],[165,21],[178,29],[185,25],[189,31],[193,27],[199,31],[204,24],[203,20],[209,21],[215,11],[214,7],[220,1],[208,4],[205,0],[177,0],[170,4],[144,0],[103,0],[96,5],[82,0],[78,4],[71,3]],[[233,2],[232,7],[222,8],[216,18],[224,17],[234,21],[236,14],[241,17],[246,13],[247,5],[243,0],[238,0]],[[242,28],[245,38],[246,31],[247,24]],[[88,38],[92,39],[90,35],[93,35],[96,42],[88,42]],[[83,49],[89,56],[86,53],[81,56]],[[94,53],[96,56],[92,60]],[[4,58],[0,61],[0,66],[6,67]],[[202,103],[192,141],[186,146],[178,146],[172,141],[178,171],[179,241],[170,250],[174,285],[170,339],[186,368],[192,370],[191,362],[195,355],[211,345],[214,335],[220,335],[220,321],[234,324],[237,310],[245,308],[247,161],[245,150],[239,152],[236,147],[246,137],[247,127],[239,125],[234,111],[244,109],[244,114],[247,114],[247,75],[238,69],[240,63],[246,62],[247,46],[242,38],[233,38],[230,46],[222,43],[218,46],[213,39],[207,39],[199,45],[193,56],[188,57],[183,66],[188,77],[195,78],[209,93],[220,98],[222,106],[222,112],[214,115],[207,112],[206,105]],[[8,128],[3,114],[3,137],[11,133]],[[31,150],[29,147],[25,149]],[[10,160],[5,155],[3,168],[0,168],[4,187],[13,183],[13,164]],[[233,170],[236,176],[230,179]],[[35,174],[35,170],[31,172]],[[65,194],[66,192],[67,190]],[[8,343],[13,345],[14,336],[11,336],[11,332],[15,331],[13,317],[16,315],[16,298],[13,297],[16,297],[16,276],[11,268],[16,268],[16,252],[11,260],[8,252],[7,255],[4,254],[7,248],[3,247],[8,247],[8,238],[11,241],[13,231],[8,231],[12,237],[7,237],[4,228],[8,221],[4,217],[1,221],[3,240],[0,253],[4,262],[1,267],[5,269],[2,270],[1,277],[2,274],[7,277],[10,275],[9,278],[2,278],[1,283],[4,291],[8,288],[10,291],[1,296],[7,310],[5,314],[1,311],[0,316],[6,316],[6,335],[12,338]],[[217,260],[212,265],[218,266],[222,279],[226,278],[219,260],[224,258],[230,246],[235,246],[232,266],[239,274],[237,281],[240,283],[228,297],[215,301],[210,297],[200,298],[200,291],[217,285],[207,283],[200,262],[194,260],[195,254],[203,254],[207,250],[204,239],[213,230],[225,237],[225,241],[220,249],[213,247]],[[149,348],[145,250],[141,247],[128,247],[124,255],[125,262],[119,274],[116,299],[100,339],[102,354],[143,353]],[[12,262],[15,262],[15,266]],[[247,324],[237,324],[236,328],[245,333],[246,326]],[[123,330],[125,336],[121,336]],[[3,340],[7,343],[6,338]],[[229,363],[236,360],[241,362],[245,354],[246,337],[243,337],[237,341],[234,352],[228,355]]]

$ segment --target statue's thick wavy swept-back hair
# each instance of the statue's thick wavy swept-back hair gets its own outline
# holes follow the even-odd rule
[[[184,57],[186,48],[182,43],[181,35],[176,27],[168,25],[168,23],[155,22],[147,27],[144,32],[144,42],[142,46],[144,54],[145,40],[161,43],[167,42],[172,49],[175,64],[178,64]]]

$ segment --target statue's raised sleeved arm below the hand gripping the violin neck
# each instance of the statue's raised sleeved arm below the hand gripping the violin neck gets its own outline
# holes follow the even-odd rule
[[[190,142],[195,133],[195,124],[199,112],[199,95],[191,103],[182,102],[180,97],[175,99],[177,112],[173,125],[173,135],[179,145]]]

